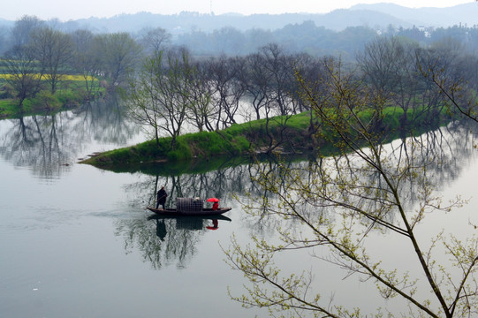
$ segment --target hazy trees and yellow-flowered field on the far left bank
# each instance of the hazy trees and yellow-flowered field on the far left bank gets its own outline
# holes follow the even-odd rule
[[[163,29],[145,36],[158,33],[168,36]],[[89,101],[123,85],[143,52],[131,34],[64,33],[29,16],[16,21],[11,34],[14,42],[0,60],[0,94],[20,116],[26,104],[34,108],[27,112],[50,110],[54,101]]]

